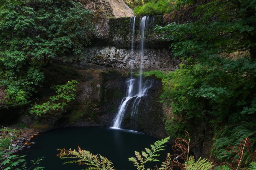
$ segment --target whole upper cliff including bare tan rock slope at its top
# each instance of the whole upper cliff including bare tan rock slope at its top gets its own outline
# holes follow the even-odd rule
[[[163,16],[149,16],[144,33],[144,55],[141,60],[141,17],[135,18],[132,31],[132,10],[123,0],[80,0],[94,15],[96,33],[90,46],[84,48],[79,58],[72,57],[69,64],[98,65],[116,68],[178,68],[179,59],[174,59],[170,42],[154,32],[156,25],[165,26]],[[122,18],[114,18],[122,17]],[[134,33],[132,36],[132,33]],[[132,39],[133,37],[133,39]],[[131,49],[133,41],[133,49]],[[59,61],[65,58],[55,58]],[[142,64],[140,62],[142,61]],[[66,61],[67,62],[67,61]]]

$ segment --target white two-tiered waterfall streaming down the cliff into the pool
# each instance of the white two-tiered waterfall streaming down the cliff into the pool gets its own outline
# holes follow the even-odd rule
[[[130,26],[132,28],[132,55],[134,48],[134,32],[135,32],[135,19],[136,17],[131,18]],[[124,113],[127,110],[130,101],[132,102],[132,111],[131,111],[131,124],[133,123],[138,112],[138,107],[141,101],[141,97],[147,95],[148,89],[152,86],[152,81],[147,80],[144,84],[142,83],[142,68],[143,68],[143,57],[144,57],[144,34],[145,30],[148,29],[148,16],[144,16],[140,18],[140,35],[141,35],[141,43],[140,43],[140,78],[139,78],[139,90],[136,92],[135,89],[138,89],[136,86],[134,78],[130,78],[127,81],[127,96],[123,98],[116,117],[113,120],[114,128],[121,128],[121,124],[124,118]]]

